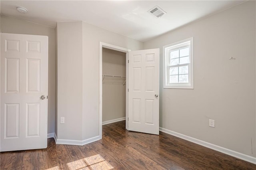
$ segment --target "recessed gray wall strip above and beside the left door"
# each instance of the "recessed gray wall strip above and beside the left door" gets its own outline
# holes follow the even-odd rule
[[[1,15],[1,31],[13,34],[31,34],[49,37],[48,48],[48,133],[55,124],[55,28]]]

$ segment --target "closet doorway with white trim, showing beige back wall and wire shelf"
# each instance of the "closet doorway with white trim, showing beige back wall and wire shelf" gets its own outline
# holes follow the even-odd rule
[[[126,120],[128,129],[128,52],[100,42],[100,136],[102,125]]]

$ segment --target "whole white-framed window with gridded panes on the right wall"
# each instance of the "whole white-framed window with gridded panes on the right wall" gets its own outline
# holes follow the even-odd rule
[[[193,38],[165,45],[164,88],[194,89]]]

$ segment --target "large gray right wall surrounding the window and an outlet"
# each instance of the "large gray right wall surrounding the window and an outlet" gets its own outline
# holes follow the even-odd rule
[[[144,49],[160,48],[162,56],[163,45],[190,37],[194,89],[163,89],[160,64],[160,127],[255,157],[255,2],[168,32]]]

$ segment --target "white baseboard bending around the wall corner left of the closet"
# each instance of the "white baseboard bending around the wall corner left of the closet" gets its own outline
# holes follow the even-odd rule
[[[86,140],[58,139],[56,134],[55,134],[55,138],[56,138],[55,140],[56,144],[69,144],[69,145],[78,145],[78,146],[83,146],[85,144],[92,143],[101,139],[100,136],[95,136]]]

